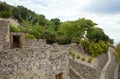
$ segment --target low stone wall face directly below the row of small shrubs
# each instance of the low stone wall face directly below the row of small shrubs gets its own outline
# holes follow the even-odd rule
[[[84,79],[96,79],[97,71],[89,66],[78,63],[70,59],[70,66],[79,73]],[[71,73],[71,72],[70,72]]]

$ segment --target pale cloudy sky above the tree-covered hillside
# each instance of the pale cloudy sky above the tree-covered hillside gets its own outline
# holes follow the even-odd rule
[[[120,42],[120,0],[0,0],[11,5],[23,5],[46,18],[60,18],[61,21],[85,17]]]

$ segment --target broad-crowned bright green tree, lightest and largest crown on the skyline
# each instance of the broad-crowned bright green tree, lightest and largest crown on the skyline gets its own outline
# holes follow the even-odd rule
[[[62,32],[66,37],[73,38],[79,37],[82,38],[84,32],[89,31],[93,28],[96,23],[85,18],[78,19],[76,21],[66,21],[60,25],[59,31]]]

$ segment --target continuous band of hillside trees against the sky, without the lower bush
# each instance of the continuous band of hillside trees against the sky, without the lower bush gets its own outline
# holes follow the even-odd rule
[[[17,19],[22,26],[19,29],[34,35],[37,39],[49,37],[49,41],[54,38],[53,42],[63,41],[63,44],[68,44],[85,38],[85,33],[87,33],[86,38],[90,41],[103,40],[113,43],[113,40],[101,28],[96,27],[96,23],[86,18],[65,22],[61,22],[59,18],[48,20],[43,14],[36,14],[24,6],[15,7],[5,2],[0,3],[0,17]],[[11,29],[15,31],[15,28],[11,27]]]

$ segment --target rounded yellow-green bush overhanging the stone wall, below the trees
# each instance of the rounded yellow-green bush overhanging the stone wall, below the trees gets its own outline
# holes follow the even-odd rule
[[[109,44],[106,41],[90,42],[88,39],[82,41],[81,45],[84,49],[84,52],[93,57],[98,56],[102,53],[106,53],[109,48]]]

